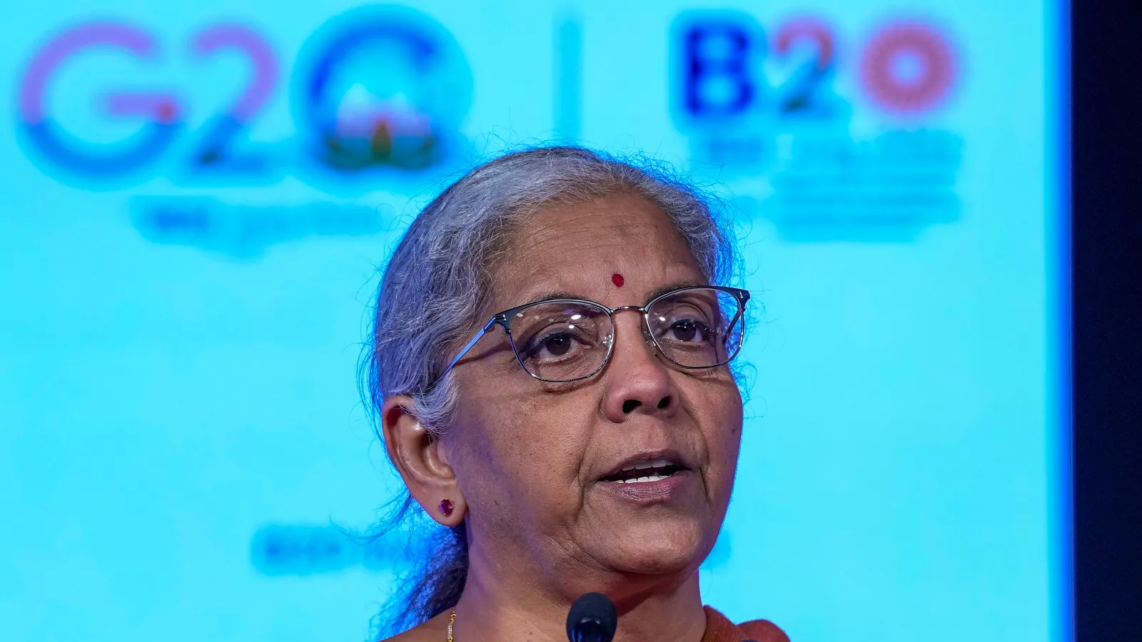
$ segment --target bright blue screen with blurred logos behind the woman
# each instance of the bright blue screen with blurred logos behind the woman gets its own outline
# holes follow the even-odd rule
[[[1071,639],[1062,2],[43,0],[6,18],[0,639],[364,640],[407,568],[375,270],[576,139],[731,208],[759,305],[705,600]]]

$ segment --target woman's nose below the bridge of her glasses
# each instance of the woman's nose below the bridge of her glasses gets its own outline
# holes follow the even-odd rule
[[[614,314],[614,347],[606,364],[603,412],[622,423],[636,415],[668,417],[678,408],[670,369],[643,332],[642,315]]]

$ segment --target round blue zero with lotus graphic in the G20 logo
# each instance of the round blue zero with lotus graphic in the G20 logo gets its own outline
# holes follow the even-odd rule
[[[309,38],[292,93],[305,144],[320,166],[341,175],[417,171],[460,146],[472,71],[432,18],[405,7],[363,7]]]

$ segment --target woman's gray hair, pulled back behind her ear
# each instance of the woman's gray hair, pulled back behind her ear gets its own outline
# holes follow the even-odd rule
[[[510,250],[513,234],[550,204],[636,194],[674,223],[711,283],[737,267],[732,234],[719,209],[661,162],[619,160],[573,146],[530,149],[481,164],[436,196],[404,233],[385,268],[362,361],[365,402],[375,419],[385,399],[411,398],[411,411],[433,434],[453,423],[457,392],[440,374],[486,319],[490,274]],[[379,426],[378,426],[379,428]],[[379,433],[379,430],[378,430]],[[401,499],[401,498],[399,498]],[[404,496],[384,520],[384,533],[405,521]],[[456,605],[467,577],[467,535],[450,529],[441,551],[425,556],[420,578],[391,603],[388,628],[416,626]],[[379,537],[379,535],[378,535]],[[380,616],[378,616],[379,618]]]

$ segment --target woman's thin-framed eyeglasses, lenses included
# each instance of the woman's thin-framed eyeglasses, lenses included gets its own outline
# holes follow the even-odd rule
[[[642,313],[648,343],[675,366],[716,368],[741,350],[748,300],[747,290],[697,286],[661,294],[644,306],[609,308],[584,299],[529,303],[492,315],[436,382],[496,326],[507,332],[516,360],[532,377],[553,383],[586,379],[611,359],[614,313],[625,310]]]

